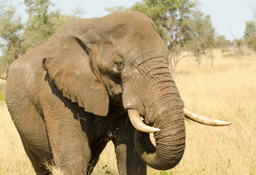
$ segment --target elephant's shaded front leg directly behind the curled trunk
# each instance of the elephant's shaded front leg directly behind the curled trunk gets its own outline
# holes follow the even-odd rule
[[[147,174],[147,165],[139,158],[133,143],[135,129],[128,117],[124,117],[115,130],[115,153],[119,174]]]

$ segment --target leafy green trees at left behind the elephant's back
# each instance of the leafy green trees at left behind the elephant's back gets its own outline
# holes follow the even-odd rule
[[[59,10],[50,11],[50,0],[24,0],[28,19],[22,23],[15,15],[15,8],[0,1],[1,58],[0,77],[7,77],[9,64],[28,50],[44,43],[63,24],[77,18],[74,15],[61,15]]]

